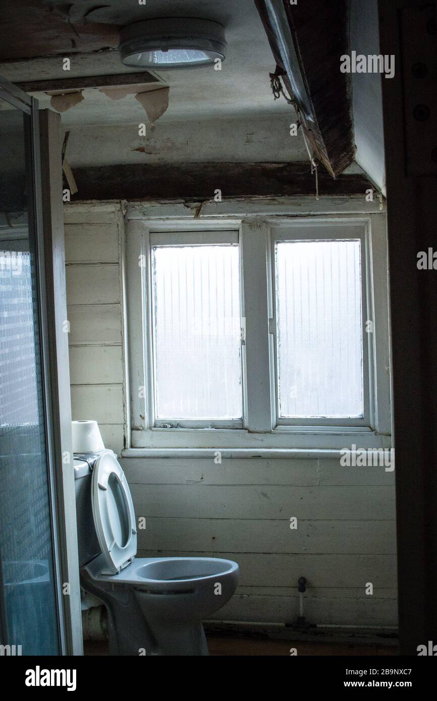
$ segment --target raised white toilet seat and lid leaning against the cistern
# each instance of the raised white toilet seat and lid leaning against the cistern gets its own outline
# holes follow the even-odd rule
[[[128,480],[112,452],[95,462],[91,502],[98,541],[115,574],[137,554],[137,529]]]

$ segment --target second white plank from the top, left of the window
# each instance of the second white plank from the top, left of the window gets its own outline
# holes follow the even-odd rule
[[[118,263],[119,231],[115,224],[65,226],[67,263]]]

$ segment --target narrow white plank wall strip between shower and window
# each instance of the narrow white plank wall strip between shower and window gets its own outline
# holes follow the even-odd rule
[[[123,285],[119,207],[65,215],[72,418],[94,418],[117,454],[124,445]]]

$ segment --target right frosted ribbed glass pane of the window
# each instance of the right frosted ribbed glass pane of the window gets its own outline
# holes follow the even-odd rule
[[[363,416],[359,240],[276,244],[279,414]]]

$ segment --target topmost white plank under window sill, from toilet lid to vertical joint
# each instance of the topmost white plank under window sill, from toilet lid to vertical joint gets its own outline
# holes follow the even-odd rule
[[[284,484],[316,486],[316,460],[121,458],[129,484]]]

